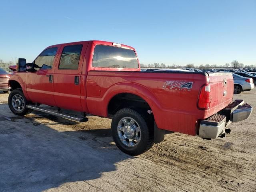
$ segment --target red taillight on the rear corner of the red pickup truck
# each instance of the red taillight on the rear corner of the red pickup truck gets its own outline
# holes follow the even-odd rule
[[[202,87],[201,92],[199,94],[198,108],[203,110],[208,109],[210,108],[210,102],[211,102],[211,86],[209,84],[206,84]]]

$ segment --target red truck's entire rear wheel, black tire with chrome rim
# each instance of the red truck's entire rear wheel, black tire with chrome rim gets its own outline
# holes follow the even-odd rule
[[[154,134],[146,118],[137,111],[124,108],[112,119],[112,136],[116,146],[129,155],[140,155],[154,144]]]

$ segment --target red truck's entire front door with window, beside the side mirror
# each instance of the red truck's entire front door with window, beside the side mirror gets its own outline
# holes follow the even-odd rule
[[[36,71],[26,72],[26,92],[32,102],[56,106],[52,81],[54,68],[52,66],[57,61],[56,55],[59,47],[55,46],[44,50],[34,60]]]

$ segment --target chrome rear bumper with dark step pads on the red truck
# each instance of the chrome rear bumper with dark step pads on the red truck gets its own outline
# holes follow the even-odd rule
[[[207,139],[225,136],[226,128],[230,123],[245,120],[251,113],[252,106],[244,104],[243,100],[235,100],[218,114],[214,114],[206,120],[201,120],[198,136]]]

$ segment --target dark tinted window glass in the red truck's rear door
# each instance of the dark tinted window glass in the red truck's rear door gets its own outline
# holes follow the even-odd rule
[[[61,58],[59,69],[78,69],[82,45],[65,46]]]

